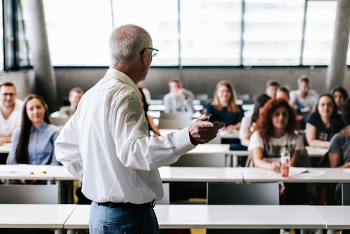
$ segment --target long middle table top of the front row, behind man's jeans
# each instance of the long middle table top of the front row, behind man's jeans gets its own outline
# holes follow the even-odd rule
[[[78,205],[64,228],[88,228],[89,212]],[[325,228],[310,206],[156,205],[155,214],[160,228]]]

